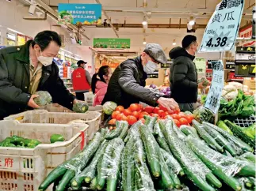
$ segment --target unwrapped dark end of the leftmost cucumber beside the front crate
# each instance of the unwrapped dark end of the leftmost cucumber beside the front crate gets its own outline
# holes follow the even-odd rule
[[[56,167],[54,170],[48,174],[47,178],[44,179],[44,182],[42,182],[38,188],[39,191],[44,191],[48,188],[49,185],[51,185],[53,182],[55,182],[58,178],[62,177],[63,174],[65,174],[67,171],[64,167]]]

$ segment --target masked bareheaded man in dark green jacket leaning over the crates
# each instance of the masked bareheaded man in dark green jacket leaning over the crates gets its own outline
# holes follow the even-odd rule
[[[72,108],[77,102],[59,78],[53,62],[61,46],[56,32],[44,31],[21,47],[0,50],[0,119],[30,108],[36,91],[48,91],[53,103]]]

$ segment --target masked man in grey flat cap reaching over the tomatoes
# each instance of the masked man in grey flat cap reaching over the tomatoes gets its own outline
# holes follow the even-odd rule
[[[115,69],[109,81],[105,98],[101,104],[113,101],[128,108],[132,103],[161,104],[168,110],[178,108],[174,99],[163,98],[159,93],[144,88],[147,73],[153,73],[159,63],[166,63],[167,58],[159,44],[148,43],[143,53],[134,59],[128,59]]]

